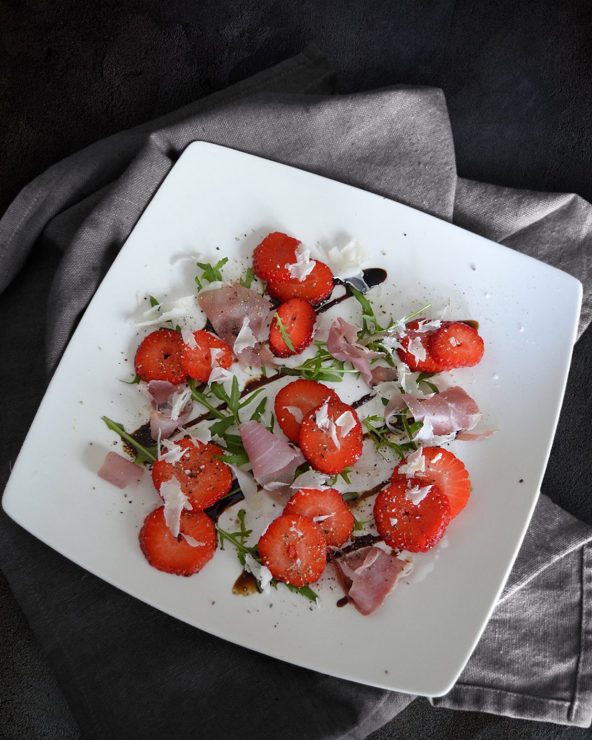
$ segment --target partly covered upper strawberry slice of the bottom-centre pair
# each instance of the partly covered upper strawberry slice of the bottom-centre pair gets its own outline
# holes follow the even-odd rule
[[[301,488],[286,504],[283,513],[312,519],[323,531],[327,545],[334,548],[347,542],[354,531],[354,515],[335,488],[324,491]]]

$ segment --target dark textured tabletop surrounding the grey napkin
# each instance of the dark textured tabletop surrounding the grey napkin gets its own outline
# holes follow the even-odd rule
[[[590,0],[0,0],[0,38],[0,213],[58,159],[310,41],[332,59],[341,92],[443,87],[460,175],[592,200]],[[543,485],[588,522],[591,356],[588,331]],[[34,409],[25,413],[32,420]],[[0,594],[0,737],[78,739],[3,580]],[[590,731],[420,700],[372,739],[508,736],[579,740]]]

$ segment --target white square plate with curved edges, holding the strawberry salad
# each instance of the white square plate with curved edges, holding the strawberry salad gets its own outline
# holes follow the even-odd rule
[[[337,608],[343,594],[331,579],[314,587],[320,608],[283,587],[270,596],[234,596],[240,565],[228,546],[189,579],[150,568],[137,539],[144,516],[160,501],[149,475],[138,488],[119,491],[96,474],[115,439],[101,416],[128,429],[147,417],[138,387],[118,383],[132,377],[138,337],[149,331],[138,332],[129,320],[138,315],[138,296],[187,295],[195,289],[195,265],[180,255],[248,259],[276,230],[311,246],[357,238],[369,253],[365,266],[388,271],[379,301],[388,313],[399,318],[424,303],[448,304],[447,318],[478,320],[485,340],[480,365],[454,373],[486,424],[499,429],[489,440],[451,445],[471,476],[471,499],[448,528],[448,547],[424,564],[431,572],[398,585],[368,617]],[[78,565],[190,625],[323,673],[439,696],[476,645],[531,517],[580,302],[581,286],[570,275],[450,223],[309,172],[195,142],[84,313],[2,505]],[[337,314],[345,315],[344,306]],[[354,316],[356,305],[349,310]],[[356,392],[336,389],[344,400]]]

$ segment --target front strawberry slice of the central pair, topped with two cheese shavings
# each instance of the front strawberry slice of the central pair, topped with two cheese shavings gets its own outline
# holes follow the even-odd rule
[[[344,436],[336,422],[348,411],[354,419],[354,426]],[[355,409],[340,400],[329,400],[309,411],[298,433],[298,444],[306,460],[316,470],[332,475],[354,464],[362,454],[362,441],[362,425]]]

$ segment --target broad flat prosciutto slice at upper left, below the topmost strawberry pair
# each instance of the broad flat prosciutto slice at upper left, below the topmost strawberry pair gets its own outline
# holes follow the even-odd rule
[[[240,283],[232,283],[200,293],[198,304],[218,337],[235,350],[241,365],[268,364],[269,357],[261,356],[259,340],[272,310],[271,301]],[[250,337],[257,341],[252,343]]]

